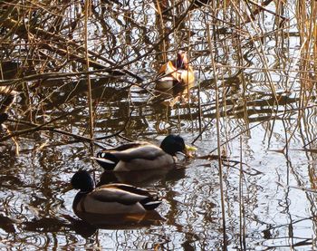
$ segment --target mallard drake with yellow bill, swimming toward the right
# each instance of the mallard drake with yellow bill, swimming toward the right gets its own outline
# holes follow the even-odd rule
[[[182,137],[169,134],[156,146],[147,141],[135,141],[122,144],[110,150],[101,150],[95,159],[105,170],[139,171],[142,169],[171,168],[178,161],[179,152],[187,157],[190,151],[196,150],[185,144]]]

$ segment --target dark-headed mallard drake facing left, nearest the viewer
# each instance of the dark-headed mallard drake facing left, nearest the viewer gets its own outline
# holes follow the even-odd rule
[[[73,200],[74,212],[101,215],[144,214],[159,207],[161,201],[148,190],[125,184],[109,184],[95,188],[86,170],[72,177],[72,188],[80,189]]]

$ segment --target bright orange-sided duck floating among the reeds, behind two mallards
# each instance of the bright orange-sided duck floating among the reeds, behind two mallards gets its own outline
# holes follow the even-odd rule
[[[177,59],[164,63],[157,76],[156,90],[168,91],[168,89],[189,89],[194,86],[195,73],[193,67],[188,64],[187,52],[179,51]],[[181,92],[182,95],[182,92]]]

